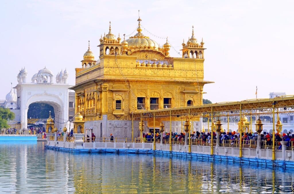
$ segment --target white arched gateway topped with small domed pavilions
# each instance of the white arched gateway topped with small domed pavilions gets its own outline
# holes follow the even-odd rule
[[[31,103],[46,103],[52,105],[55,113],[55,123],[59,131],[64,125],[68,127],[69,119],[69,84],[67,84],[67,71],[60,72],[53,83],[53,74],[49,69],[41,69],[26,83],[25,69],[18,75],[16,107],[20,109],[21,128],[27,128],[27,113]],[[61,76],[60,76],[61,75]],[[48,113],[49,114],[49,113]],[[48,115],[49,116],[49,115]]]

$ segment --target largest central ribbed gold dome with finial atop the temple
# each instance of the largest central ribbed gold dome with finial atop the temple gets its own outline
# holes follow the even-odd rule
[[[159,45],[157,44],[156,41],[152,40],[151,38],[149,38],[148,36],[144,36],[141,31],[141,22],[142,20],[139,18],[138,22],[138,28],[137,31],[138,33],[136,33],[134,36],[131,36],[129,39],[126,40],[126,42],[128,42],[128,47],[129,48],[147,48],[147,49],[152,49],[152,50],[158,50]]]

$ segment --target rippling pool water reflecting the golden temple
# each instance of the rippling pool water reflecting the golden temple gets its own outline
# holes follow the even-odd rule
[[[292,193],[293,169],[0,142],[0,193]]]

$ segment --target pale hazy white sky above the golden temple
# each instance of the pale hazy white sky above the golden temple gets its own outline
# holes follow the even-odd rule
[[[167,37],[176,50],[191,37],[205,42],[203,98],[213,103],[268,98],[269,92],[293,91],[294,1],[1,1],[0,81],[4,99],[10,82],[22,67],[27,81],[46,66],[54,76],[61,68],[74,85],[90,40],[98,59],[100,35],[121,38],[142,25],[152,34]],[[144,35],[160,45],[165,40]],[[171,56],[179,55],[171,48]],[[55,80],[54,80],[55,81]]]

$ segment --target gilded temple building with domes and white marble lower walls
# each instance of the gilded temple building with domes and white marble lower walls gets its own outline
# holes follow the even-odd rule
[[[204,42],[198,42],[192,27],[191,38],[182,43],[182,57],[171,57],[168,39],[160,46],[143,35],[141,18],[137,33],[129,38],[109,32],[99,39],[99,60],[88,50],[81,66],[76,68],[76,113],[92,129],[96,137],[138,137],[140,120],[132,120],[132,113],[141,110],[177,108],[201,105]],[[170,119],[172,122],[170,122]],[[161,122],[173,132],[183,130],[178,117],[143,120],[143,132],[156,132]],[[155,126],[154,126],[155,123]],[[202,121],[196,118],[192,129],[201,130]],[[82,131],[81,131],[82,132]]]

